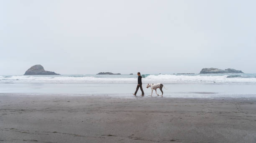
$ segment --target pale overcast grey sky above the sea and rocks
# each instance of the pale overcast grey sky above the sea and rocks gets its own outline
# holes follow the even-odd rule
[[[0,0],[0,75],[256,73],[255,0]]]

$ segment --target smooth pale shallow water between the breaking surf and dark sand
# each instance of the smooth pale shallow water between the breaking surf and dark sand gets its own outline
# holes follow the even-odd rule
[[[112,96],[132,96],[137,84],[125,83],[15,83],[0,84],[0,93],[30,94],[105,94]],[[256,97],[256,84],[164,84],[165,97]],[[145,95],[151,89],[143,84]],[[161,95],[161,91],[157,89]],[[138,94],[141,91],[139,89]],[[153,96],[157,96],[153,91]]]

